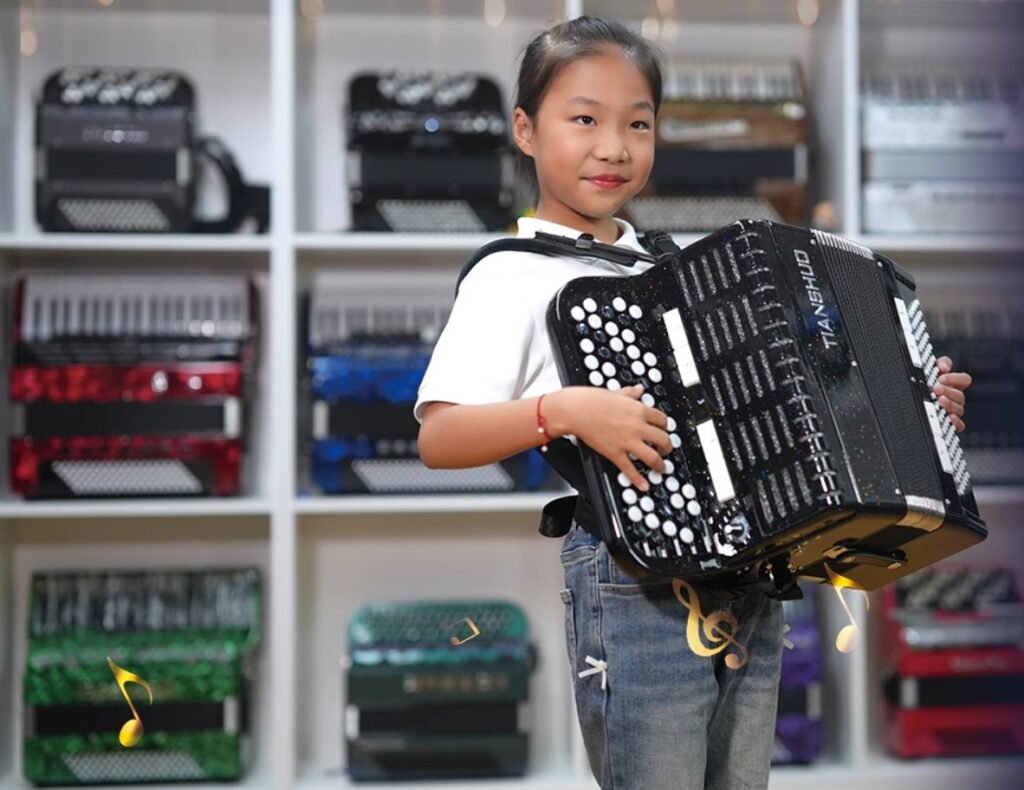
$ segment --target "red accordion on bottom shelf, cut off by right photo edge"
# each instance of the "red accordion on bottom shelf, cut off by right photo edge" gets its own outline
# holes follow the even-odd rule
[[[1008,568],[927,569],[883,591],[886,745],[1024,752],[1024,606]]]

